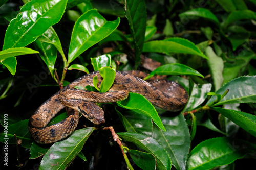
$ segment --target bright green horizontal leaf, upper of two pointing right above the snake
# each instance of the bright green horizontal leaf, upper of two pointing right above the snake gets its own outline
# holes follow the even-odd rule
[[[194,54],[208,59],[193,42],[177,37],[145,42],[143,52]]]

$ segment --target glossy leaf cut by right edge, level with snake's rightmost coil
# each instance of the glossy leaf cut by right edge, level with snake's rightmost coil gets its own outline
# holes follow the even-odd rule
[[[213,106],[231,104],[231,103],[254,103],[256,101],[256,76],[242,76],[229,81],[222,86],[217,94],[223,94],[227,89],[229,92],[222,98],[222,100]],[[207,104],[214,102],[215,96],[212,96]]]

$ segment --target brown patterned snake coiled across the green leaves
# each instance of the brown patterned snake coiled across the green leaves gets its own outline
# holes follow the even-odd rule
[[[100,84],[103,78],[99,72],[91,72],[55,93],[35,111],[29,120],[28,128],[36,142],[53,143],[70,135],[78,124],[79,112],[94,124],[104,123],[104,112],[95,102],[121,101],[127,98],[129,92],[142,94],[152,104],[169,111],[181,110],[188,100],[187,91],[179,84],[158,79],[148,83],[141,79],[146,75],[140,71],[116,71],[114,84],[106,93],[74,89],[77,85],[93,86],[93,77],[96,75]],[[68,117],[57,124],[47,126],[65,106],[68,107]]]

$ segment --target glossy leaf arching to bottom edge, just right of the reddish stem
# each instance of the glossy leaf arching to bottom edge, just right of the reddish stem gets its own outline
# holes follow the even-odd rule
[[[157,169],[170,169],[172,164],[166,150],[155,139],[139,133],[117,133],[124,142],[131,142],[138,148],[152,154],[157,160]]]

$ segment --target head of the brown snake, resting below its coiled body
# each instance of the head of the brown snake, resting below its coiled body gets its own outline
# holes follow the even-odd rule
[[[78,111],[94,124],[99,125],[105,122],[104,111],[94,102],[84,102],[82,106],[78,106]]]

